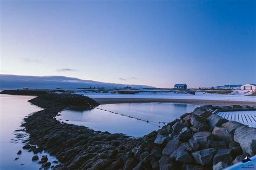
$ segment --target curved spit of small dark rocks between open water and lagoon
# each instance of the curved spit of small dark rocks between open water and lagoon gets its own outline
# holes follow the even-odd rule
[[[55,155],[61,164],[52,166],[53,169],[119,169],[124,166],[124,154],[137,142],[124,134],[93,131],[55,119],[60,111],[68,107],[90,109],[98,106],[91,98],[78,94],[46,93],[30,102],[44,110],[25,118],[23,126],[30,134],[25,149],[34,153],[45,150]],[[32,160],[37,161],[38,158]],[[39,164],[51,166],[45,157]]]

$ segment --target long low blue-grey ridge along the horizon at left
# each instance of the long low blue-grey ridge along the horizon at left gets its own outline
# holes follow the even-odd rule
[[[23,89],[28,86],[30,89],[77,89],[89,87],[123,88],[127,84],[104,83],[100,81],[82,80],[65,76],[17,76],[0,74],[0,89]],[[151,86],[129,85],[132,88],[142,89]]]

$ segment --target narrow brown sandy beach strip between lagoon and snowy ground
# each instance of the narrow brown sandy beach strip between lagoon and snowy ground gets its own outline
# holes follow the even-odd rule
[[[94,98],[100,105],[120,103],[186,103],[196,105],[248,105],[256,106],[254,101],[200,100],[200,99],[155,99],[155,98]]]

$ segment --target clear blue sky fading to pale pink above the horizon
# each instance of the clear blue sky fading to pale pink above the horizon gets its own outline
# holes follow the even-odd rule
[[[1,73],[256,83],[256,1],[1,1]]]

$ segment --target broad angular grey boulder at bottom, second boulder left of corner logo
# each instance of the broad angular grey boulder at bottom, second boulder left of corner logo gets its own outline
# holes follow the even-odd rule
[[[194,160],[197,164],[200,165],[211,165],[214,154],[217,152],[217,149],[208,148],[201,151],[192,152]]]

